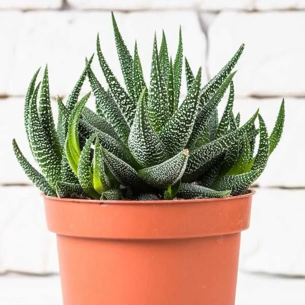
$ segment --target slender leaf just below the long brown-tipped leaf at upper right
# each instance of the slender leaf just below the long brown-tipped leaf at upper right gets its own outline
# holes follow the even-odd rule
[[[190,136],[187,147],[191,148],[194,145],[198,136],[201,134],[201,132],[204,130],[204,128],[208,125],[208,122],[209,122],[210,118],[212,117],[212,114],[214,113],[219,102],[223,98],[235,73],[236,72],[231,73],[226,78],[226,80],[222,83],[222,85],[216,90],[216,93],[212,96],[211,100],[208,103],[206,103],[203,106],[203,108],[201,108],[201,110],[199,111],[199,114],[196,117],[194,128],[193,128],[192,134]]]

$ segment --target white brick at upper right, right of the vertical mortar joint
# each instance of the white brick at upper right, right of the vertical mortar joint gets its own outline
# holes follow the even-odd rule
[[[219,71],[241,43],[239,96],[304,96],[303,12],[220,13],[209,27],[208,69]],[[289,24],[289,26],[287,26]]]

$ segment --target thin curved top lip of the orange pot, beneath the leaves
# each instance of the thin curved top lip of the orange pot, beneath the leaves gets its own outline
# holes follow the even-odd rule
[[[172,200],[96,200],[96,199],[77,199],[77,198],[60,198],[48,196],[41,193],[41,196],[50,200],[55,201],[66,201],[66,202],[76,202],[76,203],[96,203],[96,204],[172,204],[172,203],[197,203],[197,202],[211,202],[211,201],[230,201],[239,198],[247,198],[253,196],[256,191],[254,188],[248,189],[249,193],[237,195],[237,196],[227,196],[222,198],[198,198],[198,199],[172,199]]]

